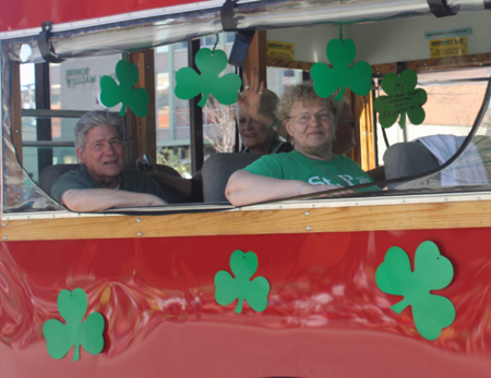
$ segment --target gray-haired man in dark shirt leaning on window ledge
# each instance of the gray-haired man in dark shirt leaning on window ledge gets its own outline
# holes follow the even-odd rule
[[[112,207],[166,205],[157,182],[145,173],[124,168],[123,119],[107,111],[92,111],[75,126],[77,170],[61,175],[51,196],[76,212]]]

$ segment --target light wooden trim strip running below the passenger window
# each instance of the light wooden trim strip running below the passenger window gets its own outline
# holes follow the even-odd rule
[[[2,241],[491,228],[491,200],[11,220]],[[309,229],[310,228],[310,229]]]

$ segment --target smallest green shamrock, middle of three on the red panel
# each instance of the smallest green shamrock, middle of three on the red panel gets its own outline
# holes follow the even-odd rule
[[[228,271],[220,270],[215,275],[215,300],[221,306],[227,306],[236,298],[239,303],[236,313],[242,313],[242,302],[246,300],[256,312],[267,307],[270,282],[264,277],[250,280],[258,270],[258,256],[253,252],[233,251],[230,256],[230,268],[236,276],[233,279]]]

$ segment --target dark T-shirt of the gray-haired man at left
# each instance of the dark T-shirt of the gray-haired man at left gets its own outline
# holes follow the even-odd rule
[[[122,191],[153,194],[164,200],[167,200],[160,185],[158,185],[154,179],[147,176],[141,171],[124,168],[120,173],[120,180],[119,188]],[[61,196],[63,193],[72,188],[99,188],[99,185],[97,185],[95,180],[88,173],[85,166],[80,164],[79,169],[60,175],[55,184],[52,184],[51,197],[61,203]]]

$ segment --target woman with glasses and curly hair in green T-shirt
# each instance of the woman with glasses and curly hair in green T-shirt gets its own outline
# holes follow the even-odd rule
[[[295,150],[264,156],[235,172],[225,191],[228,200],[242,206],[372,182],[355,161],[333,154],[340,107],[319,97],[311,83],[288,87],[277,115]]]

